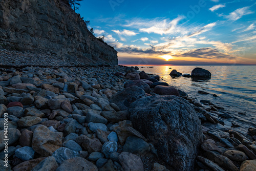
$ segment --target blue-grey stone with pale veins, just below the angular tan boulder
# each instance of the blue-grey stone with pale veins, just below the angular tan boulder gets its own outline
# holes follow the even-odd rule
[[[55,160],[58,164],[61,164],[63,161],[65,161],[67,159],[71,159],[71,158],[74,158],[74,157],[80,157],[78,152],[72,151],[71,149],[65,148],[65,147],[58,148],[52,154],[52,156],[55,158]]]

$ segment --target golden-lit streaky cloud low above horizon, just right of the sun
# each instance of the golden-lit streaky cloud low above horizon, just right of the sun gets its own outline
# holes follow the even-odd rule
[[[179,55],[180,57],[196,57],[196,58],[229,58],[229,59],[234,59],[236,57],[231,56],[226,53],[220,52],[218,49],[213,49],[213,48],[200,48],[200,49],[192,49],[189,50],[188,52],[185,52],[183,54]]]

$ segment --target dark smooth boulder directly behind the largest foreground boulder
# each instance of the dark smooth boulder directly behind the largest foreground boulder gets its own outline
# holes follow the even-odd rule
[[[110,103],[115,103],[120,110],[126,111],[129,109],[131,103],[142,97],[147,97],[145,91],[137,86],[132,86],[115,93],[111,97]]]

